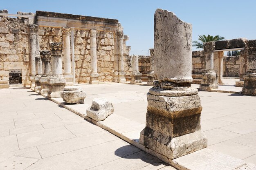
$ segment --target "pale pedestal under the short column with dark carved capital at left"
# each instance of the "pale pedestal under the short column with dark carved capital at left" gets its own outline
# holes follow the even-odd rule
[[[61,97],[61,92],[65,88],[66,80],[63,75],[52,75],[48,81],[49,92],[47,96],[50,98]]]

